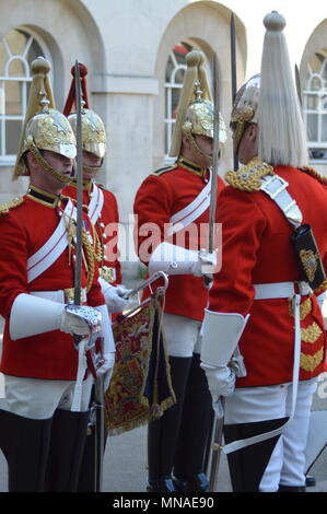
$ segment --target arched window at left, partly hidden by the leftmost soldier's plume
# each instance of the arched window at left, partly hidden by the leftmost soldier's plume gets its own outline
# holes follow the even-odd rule
[[[0,164],[12,164],[28,98],[30,65],[44,51],[26,31],[10,31],[0,42]]]

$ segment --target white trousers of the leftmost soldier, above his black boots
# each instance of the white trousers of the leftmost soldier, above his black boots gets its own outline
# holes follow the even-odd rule
[[[81,411],[90,404],[93,376],[82,384]],[[4,375],[5,399],[0,408],[24,418],[48,419],[56,409],[70,410],[75,381],[50,381]]]

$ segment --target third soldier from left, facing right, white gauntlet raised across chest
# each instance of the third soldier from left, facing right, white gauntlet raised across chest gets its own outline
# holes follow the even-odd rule
[[[199,361],[208,289],[199,250],[206,247],[208,236],[201,229],[208,227],[209,219],[213,105],[202,61],[199,51],[187,56],[171,149],[178,159],[173,166],[145,178],[135,200],[138,255],[150,274],[157,270],[170,274],[163,323],[177,400],[160,420],[149,424],[151,492],[208,488],[203,454],[212,410]],[[220,129],[220,140],[224,141],[222,120]],[[218,192],[222,188],[223,182],[218,178]]]

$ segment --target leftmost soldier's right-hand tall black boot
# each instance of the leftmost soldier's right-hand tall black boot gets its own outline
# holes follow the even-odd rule
[[[89,419],[89,410],[85,412],[56,410],[47,468],[48,491],[77,491]]]

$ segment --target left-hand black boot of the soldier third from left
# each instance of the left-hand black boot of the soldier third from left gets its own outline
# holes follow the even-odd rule
[[[172,469],[182,422],[183,405],[191,358],[170,357],[176,404],[148,425],[148,492],[174,492]]]

